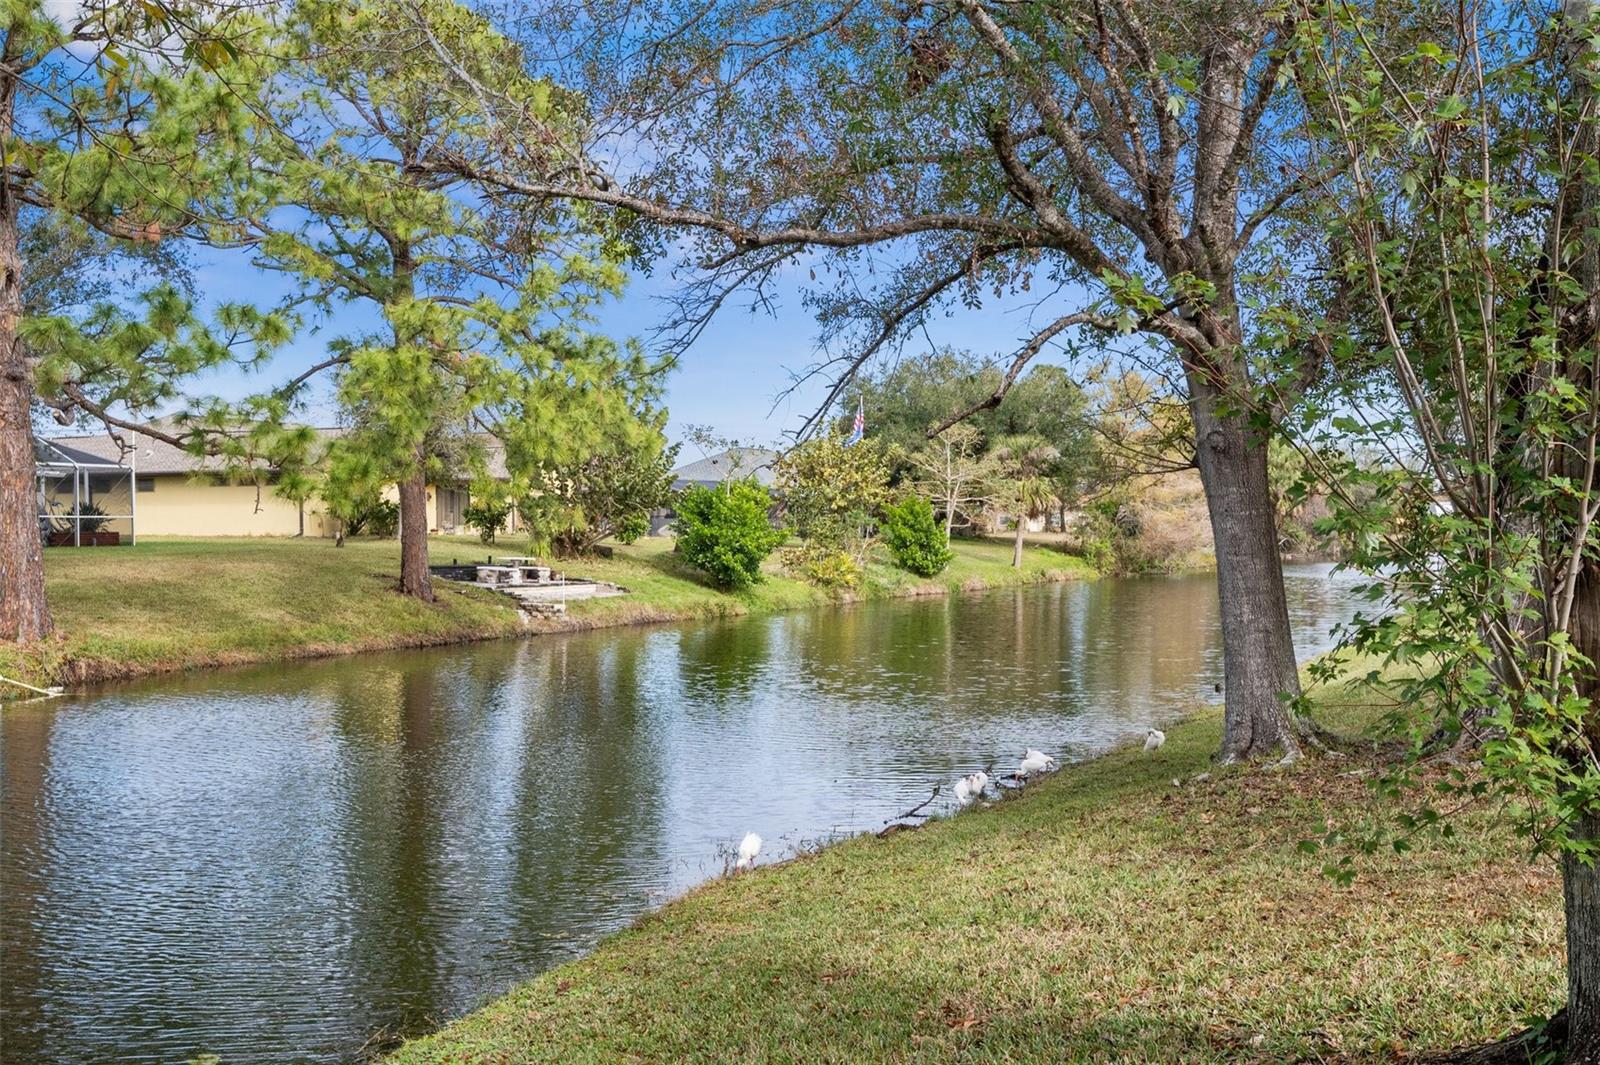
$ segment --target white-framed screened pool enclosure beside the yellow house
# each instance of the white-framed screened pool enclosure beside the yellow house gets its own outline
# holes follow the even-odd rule
[[[138,475],[126,465],[50,440],[34,440],[38,536],[48,547],[133,544]]]

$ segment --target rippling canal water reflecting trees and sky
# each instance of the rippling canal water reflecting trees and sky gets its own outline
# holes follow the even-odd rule
[[[1302,654],[1350,582],[1291,566]],[[0,715],[0,1059],[336,1062],[1221,680],[1211,577],[203,673]],[[949,790],[949,788],[947,788]]]

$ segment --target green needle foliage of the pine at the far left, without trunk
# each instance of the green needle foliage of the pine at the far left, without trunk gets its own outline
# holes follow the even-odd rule
[[[251,16],[184,0],[85,8],[69,26],[34,0],[6,14],[0,88],[14,107],[0,136],[13,203],[38,209],[19,219],[24,317],[5,328],[24,337],[37,401],[62,422],[144,419],[189,406],[205,373],[258,368],[293,317],[227,302],[202,313],[178,251],[187,237],[222,235],[211,222],[258,184],[250,107],[229,85],[242,75],[230,42]],[[66,75],[64,48],[90,69]],[[166,429],[214,467],[250,469],[272,449],[216,421]]]

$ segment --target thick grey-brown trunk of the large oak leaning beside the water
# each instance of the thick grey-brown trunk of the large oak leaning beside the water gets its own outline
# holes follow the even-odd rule
[[[1285,696],[1299,694],[1290,608],[1267,488],[1267,443],[1242,416],[1218,416],[1211,397],[1192,401],[1195,457],[1216,540],[1222,603],[1222,763],[1282,750],[1298,755]]]

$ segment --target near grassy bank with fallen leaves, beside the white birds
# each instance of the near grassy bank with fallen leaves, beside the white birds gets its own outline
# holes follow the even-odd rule
[[[1557,880],[1507,833],[1339,888],[1296,841],[1370,812],[1352,763],[1194,780],[1218,732],[701,888],[394,1062],[1387,1062],[1558,1004]]]

